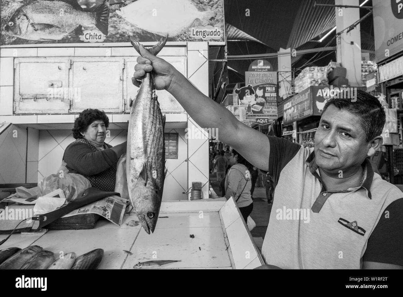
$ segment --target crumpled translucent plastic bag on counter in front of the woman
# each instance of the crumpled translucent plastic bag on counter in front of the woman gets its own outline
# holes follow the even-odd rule
[[[67,202],[71,202],[81,196],[85,190],[91,187],[88,179],[80,174],[69,173],[66,168],[66,162],[62,162],[57,174],[51,174],[44,177],[38,183],[40,196],[44,196],[61,189],[66,197]],[[39,195],[38,195],[39,196]]]

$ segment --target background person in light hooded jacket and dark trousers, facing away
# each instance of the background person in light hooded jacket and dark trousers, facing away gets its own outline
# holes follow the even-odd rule
[[[229,164],[231,168],[225,177],[225,198],[228,200],[233,197],[246,223],[253,210],[250,173],[252,166],[234,149],[231,151]]]

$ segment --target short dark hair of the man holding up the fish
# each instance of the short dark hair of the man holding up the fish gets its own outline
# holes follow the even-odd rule
[[[359,124],[365,131],[366,141],[371,141],[374,137],[382,134],[386,122],[385,111],[378,99],[362,90],[357,90],[355,99],[357,101],[338,98],[328,99],[323,107],[322,114],[330,104],[339,110],[346,110],[355,114],[358,117]]]

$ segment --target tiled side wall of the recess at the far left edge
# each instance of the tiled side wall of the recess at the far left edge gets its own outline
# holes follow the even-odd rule
[[[10,125],[0,134],[0,183],[25,183],[27,130]]]

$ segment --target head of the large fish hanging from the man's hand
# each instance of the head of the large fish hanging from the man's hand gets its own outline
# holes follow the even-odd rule
[[[137,187],[131,196],[133,207],[145,232],[154,233],[161,206],[161,194],[150,187]]]

